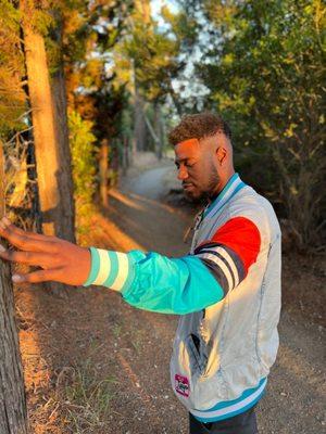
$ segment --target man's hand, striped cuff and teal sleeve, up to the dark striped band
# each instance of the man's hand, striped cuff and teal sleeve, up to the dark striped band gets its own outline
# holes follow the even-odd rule
[[[83,248],[55,237],[25,232],[5,217],[0,220],[0,237],[17,247],[3,248],[0,258],[41,268],[14,275],[15,282],[103,285],[135,307],[164,314],[201,310],[223,298],[222,288],[195,256],[168,258],[139,251]]]

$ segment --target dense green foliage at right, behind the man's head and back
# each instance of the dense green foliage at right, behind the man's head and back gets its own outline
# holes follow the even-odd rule
[[[321,1],[193,1],[205,106],[229,120],[250,182],[279,204],[296,245],[319,245],[325,199],[325,8]],[[324,188],[323,188],[324,186]],[[324,203],[324,205],[323,205]]]

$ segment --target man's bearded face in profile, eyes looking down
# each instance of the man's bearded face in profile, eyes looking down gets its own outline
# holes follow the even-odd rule
[[[178,179],[185,193],[195,200],[212,197],[218,187],[218,173],[214,164],[213,148],[204,140],[186,140],[174,148]]]

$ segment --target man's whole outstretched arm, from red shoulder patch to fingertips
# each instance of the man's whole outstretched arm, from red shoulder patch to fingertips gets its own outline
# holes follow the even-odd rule
[[[154,252],[120,253],[78,247],[55,237],[24,232],[3,218],[0,237],[20,251],[0,257],[39,266],[14,281],[54,280],[73,285],[103,285],[130,305],[163,314],[189,314],[220,302],[246,278],[260,251],[260,232],[248,218],[222,226],[193,255],[170,258]]]

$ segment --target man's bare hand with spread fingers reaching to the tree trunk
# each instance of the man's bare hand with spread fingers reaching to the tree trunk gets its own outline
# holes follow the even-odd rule
[[[0,220],[0,237],[17,247],[12,251],[0,244],[0,258],[41,268],[27,275],[14,275],[14,282],[38,283],[52,280],[71,285],[86,282],[91,266],[88,248],[57,237],[23,231],[7,217]]]

